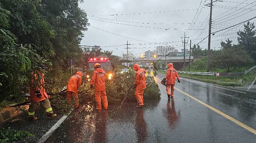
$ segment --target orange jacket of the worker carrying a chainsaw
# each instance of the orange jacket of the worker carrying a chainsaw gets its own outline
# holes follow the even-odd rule
[[[167,84],[175,84],[175,78],[179,80],[178,72],[174,69],[174,65],[170,62],[168,65],[167,75],[165,76]]]

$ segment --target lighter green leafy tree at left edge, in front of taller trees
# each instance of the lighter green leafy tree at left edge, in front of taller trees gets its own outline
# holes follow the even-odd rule
[[[0,7],[0,101],[25,91],[31,72],[43,62],[31,45],[18,45],[9,29],[11,12]]]

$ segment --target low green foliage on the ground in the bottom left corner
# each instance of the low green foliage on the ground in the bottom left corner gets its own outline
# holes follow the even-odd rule
[[[17,140],[21,140],[25,136],[34,136],[28,131],[23,130],[15,130],[11,129],[11,127],[0,128],[0,143],[12,143]]]

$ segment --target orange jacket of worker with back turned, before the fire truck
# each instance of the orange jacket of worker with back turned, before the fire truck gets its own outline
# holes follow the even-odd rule
[[[95,91],[103,91],[106,90],[105,81],[107,78],[107,74],[103,69],[98,68],[93,72],[93,76],[91,77],[91,85],[95,84]]]

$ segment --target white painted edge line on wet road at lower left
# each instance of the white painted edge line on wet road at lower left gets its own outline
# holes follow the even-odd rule
[[[73,109],[72,109],[73,110]],[[63,115],[58,122],[56,122],[49,131],[47,131],[38,141],[37,143],[44,143],[53,132],[60,127],[61,123],[68,117],[68,115],[72,112],[72,110],[67,114]]]

